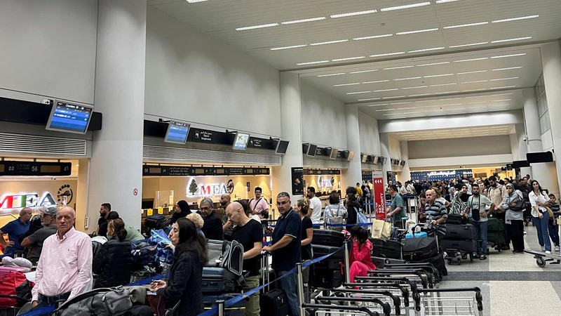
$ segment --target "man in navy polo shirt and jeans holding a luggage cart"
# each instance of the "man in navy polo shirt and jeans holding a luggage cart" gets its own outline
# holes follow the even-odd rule
[[[300,262],[300,243],[302,242],[302,220],[290,205],[290,195],[280,192],[276,196],[276,207],[280,217],[276,222],[271,246],[263,250],[273,254],[273,269],[278,277],[286,275]],[[296,296],[296,274],[280,279],[280,286],[285,290],[292,316],[299,315],[298,298]]]

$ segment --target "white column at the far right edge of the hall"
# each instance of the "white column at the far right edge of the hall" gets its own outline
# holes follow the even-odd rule
[[[553,174],[561,170],[561,44],[560,41],[541,46],[541,63],[543,67],[543,81],[546,85],[548,98],[549,120],[551,122],[551,136],[553,150],[555,151],[555,166]],[[553,166],[551,167],[553,169]],[[559,177],[557,177],[559,178]],[[557,190],[554,194],[559,196],[559,179],[556,181]]]

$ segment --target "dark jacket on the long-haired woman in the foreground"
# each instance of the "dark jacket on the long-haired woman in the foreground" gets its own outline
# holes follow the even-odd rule
[[[166,307],[180,305],[173,315],[195,316],[203,311],[203,265],[193,251],[182,251],[173,258],[170,268],[168,286],[158,289],[158,296],[163,296]]]

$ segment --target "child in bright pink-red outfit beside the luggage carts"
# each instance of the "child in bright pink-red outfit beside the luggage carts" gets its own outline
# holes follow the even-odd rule
[[[366,276],[368,270],[376,270],[372,263],[372,243],[368,240],[368,231],[360,226],[351,228],[351,253],[349,254],[351,282],[355,282],[356,276]]]

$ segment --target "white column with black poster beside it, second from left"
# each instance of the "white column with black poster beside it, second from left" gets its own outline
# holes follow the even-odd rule
[[[292,197],[292,167],[302,167],[302,111],[300,109],[300,79],[298,74],[280,73],[280,129],[283,140],[290,141],[283,156],[283,164],[273,167],[273,203],[278,192],[288,192],[292,202],[302,195]],[[306,189],[304,188],[304,192]]]

